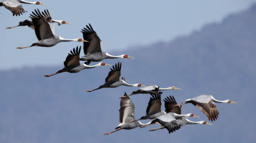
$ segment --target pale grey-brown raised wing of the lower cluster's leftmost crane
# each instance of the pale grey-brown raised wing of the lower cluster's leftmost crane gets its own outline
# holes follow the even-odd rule
[[[119,122],[128,123],[135,120],[134,115],[134,104],[132,100],[124,93],[124,96],[120,101],[120,110],[119,110]]]

